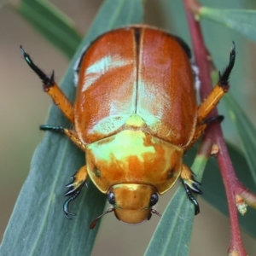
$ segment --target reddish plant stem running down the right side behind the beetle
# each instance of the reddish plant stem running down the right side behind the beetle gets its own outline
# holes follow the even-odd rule
[[[186,9],[187,20],[189,23],[189,31],[192,39],[194,54],[195,54],[195,64],[199,67],[200,80],[201,80],[201,100],[203,101],[207,95],[210,94],[212,90],[212,81],[210,77],[211,73],[211,63],[209,63],[209,58],[207,49],[205,47],[202,34],[201,27],[198,21],[195,20],[195,16],[199,16],[199,12],[201,9],[200,3],[196,0],[183,0],[184,7]],[[217,116],[218,111],[216,108],[212,110],[209,117]],[[204,141],[211,141],[212,143],[216,143],[219,148],[218,152],[218,165],[220,167],[220,172],[224,180],[224,188],[226,190],[228,207],[230,212],[230,247],[228,250],[229,255],[247,255],[242,241],[241,234],[239,230],[239,223],[237,218],[237,210],[236,210],[236,190],[237,186],[240,186],[236,173],[234,171],[234,167],[230,160],[230,155],[228,154],[227,147],[224,142],[224,136],[221,131],[220,125],[218,123],[214,123],[207,128],[205,136],[203,138]],[[209,147],[211,143],[208,144]],[[240,189],[244,190],[243,187],[240,186]]]

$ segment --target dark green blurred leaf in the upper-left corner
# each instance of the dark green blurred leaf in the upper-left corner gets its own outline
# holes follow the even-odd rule
[[[22,0],[16,11],[64,55],[73,57],[82,37],[61,10],[48,1]]]

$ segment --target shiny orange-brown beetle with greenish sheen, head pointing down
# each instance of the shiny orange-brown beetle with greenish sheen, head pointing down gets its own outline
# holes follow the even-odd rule
[[[151,218],[158,195],[180,178],[190,201],[199,205],[191,191],[201,194],[194,173],[183,164],[183,154],[214,120],[207,118],[229,89],[235,64],[233,43],[230,62],[218,84],[199,106],[196,102],[195,68],[181,38],[152,26],[126,26],[106,32],[84,51],[77,70],[74,105],[20,46],[22,55],[43,81],[74,129],[41,125],[44,131],[60,131],[85,152],[82,166],[67,185],[63,210],[90,177],[112,205],[106,212],[126,224]],[[90,228],[93,228],[97,217]]]

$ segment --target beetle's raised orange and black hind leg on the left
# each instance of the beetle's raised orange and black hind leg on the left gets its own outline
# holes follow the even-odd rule
[[[39,67],[37,67],[32,61],[30,55],[20,46],[21,54],[23,55],[26,63],[32,70],[38,74],[38,77],[43,82],[44,91],[53,99],[55,104],[61,109],[61,112],[69,119],[72,123],[74,122],[73,105],[67,99],[67,96],[62,92],[58,84],[55,83],[54,72],[51,76],[47,76]]]

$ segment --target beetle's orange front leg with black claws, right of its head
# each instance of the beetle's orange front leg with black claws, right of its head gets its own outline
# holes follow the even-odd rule
[[[183,164],[180,177],[183,182],[183,186],[186,190],[186,193],[189,196],[189,200],[194,203],[195,215],[197,215],[200,212],[200,208],[198,202],[192,195],[191,191],[195,192],[196,194],[202,194],[202,192],[201,189],[198,188],[198,186],[201,185],[201,183],[197,182],[194,179],[194,176],[195,174],[189,169],[189,167]]]

